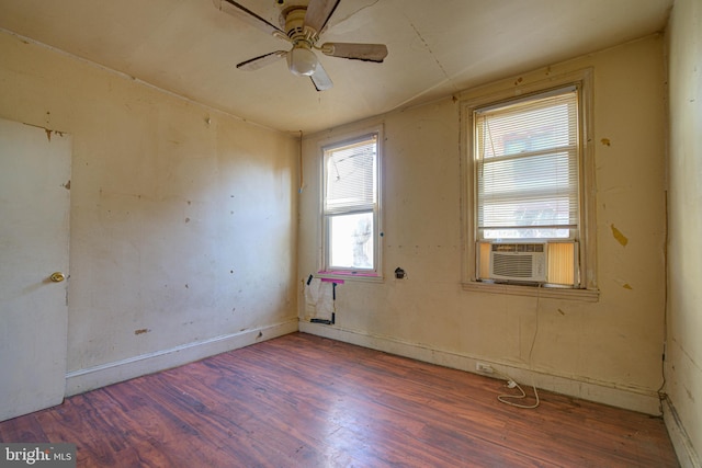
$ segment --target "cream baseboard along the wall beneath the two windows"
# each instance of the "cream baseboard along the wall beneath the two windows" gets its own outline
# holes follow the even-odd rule
[[[550,375],[542,372],[511,366],[509,364],[492,362],[482,357],[478,358],[464,354],[434,350],[421,344],[404,342],[389,336],[371,335],[355,330],[341,329],[336,326],[310,323],[304,320],[299,321],[299,331],[474,374],[479,374],[476,373],[475,365],[480,362],[489,364],[496,370],[496,374],[492,374],[490,377],[499,378],[498,374],[509,375],[509,377],[514,381],[524,384],[525,386],[535,385],[536,388],[575,398],[581,398],[584,400],[638,411],[646,414],[660,414],[660,401],[658,393],[648,389],[622,389],[604,383]]]

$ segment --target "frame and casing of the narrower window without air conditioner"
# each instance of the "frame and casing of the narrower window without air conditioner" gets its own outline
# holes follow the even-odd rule
[[[366,208],[351,207],[348,210],[335,209],[331,213],[325,210],[326,207],[326,193],[327,193],[327,152],[335,148],[343,148],[356,142],[370,140],[375,137],[375,184],[376,184],[376,199],[373,204],[373,224],[374,224],[374,238],[373,238],[373,267],[372,269],[331,269],[330,267],[330,218],[338,215],[355,214],[355,213],[369,213]],[[382,227],[382,206],[383,206],[383,126],[373,126],[364,128],[351,134],[341,135],[338,137],[327,138],[325,141],[319,142],[319,222],[320,222],[320,258],[319,258],[319,271],[318,275],[325,278],[337,279],[361,279],[361,281],[382,281],[382,251],[383,251],[383,227]]]

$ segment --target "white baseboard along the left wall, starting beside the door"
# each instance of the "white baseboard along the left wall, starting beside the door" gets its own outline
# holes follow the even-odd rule
[[[245,330],[188,343],[168,350],[141,354],[126,359],[101,364],[66,374],[66,396],[82,393],[118,381],[181,366],[215,354],[296,332],[297,317],[281,323]]]

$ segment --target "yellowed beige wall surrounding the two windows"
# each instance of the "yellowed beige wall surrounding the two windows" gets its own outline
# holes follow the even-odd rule
[[[337,288],[337,323],[302,322],[301,328],[468,370],[476,361],[487,362],[526,384],[658,413],[665,310],[664,39],[647,37],[507,82],[528,85],[589,67],[595,80],[590,144],[598,303],[463,290],[460,102],[445,99],[305,140],[298,281],[319,266],[319,142],[383,123],[385,281],[347,281]],[[627,238],[626,246],[612,226]],[[397,266],[408,278],[392,276]],[[302,297],[299,310],[305,318]]]

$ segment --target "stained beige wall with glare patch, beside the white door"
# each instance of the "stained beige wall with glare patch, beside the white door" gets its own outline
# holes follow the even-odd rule
[[[293,138],[7,34],[0,57],[0,116],[73,135],[69,392],[297,329]]]

